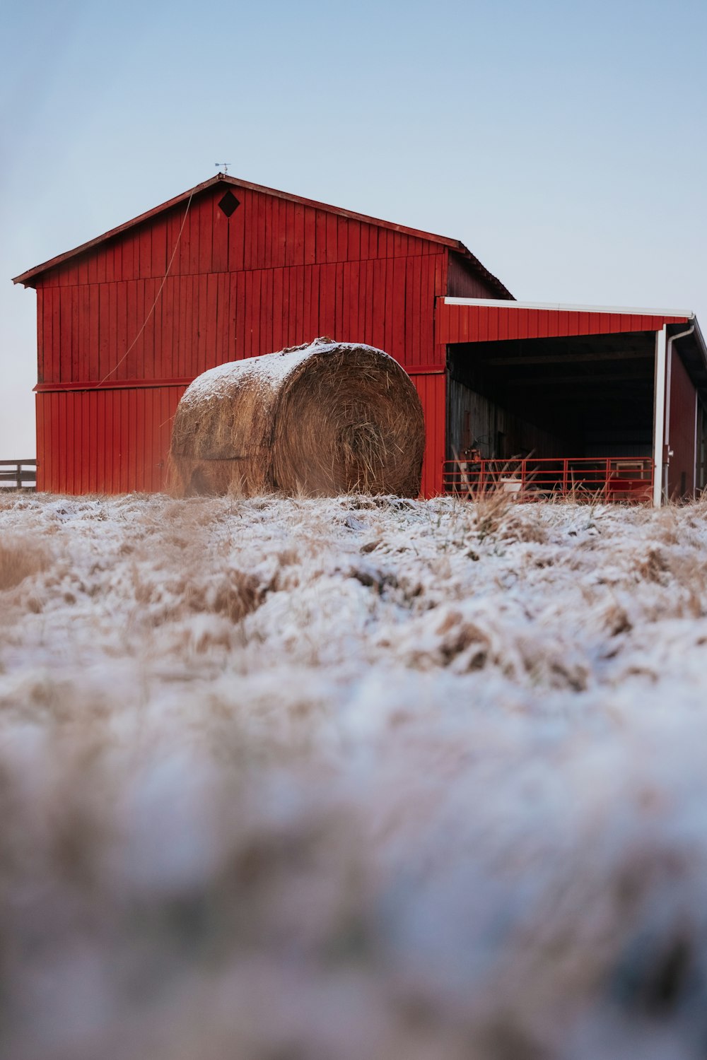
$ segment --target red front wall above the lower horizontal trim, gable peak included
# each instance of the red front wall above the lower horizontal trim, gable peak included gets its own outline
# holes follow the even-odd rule
[[[192,202],[161,293],[178,210],[38,279],[40,383],[198,375],[321,334],[413,370],[443,366],[434,311],[446,249],[248,191],[226,218],[222,194]]]

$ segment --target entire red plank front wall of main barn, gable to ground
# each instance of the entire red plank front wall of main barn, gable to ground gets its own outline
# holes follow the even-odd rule
[[[386,350],[413,375],[427,422],[424,491],[439,492],[445,348],[435,304],[447,289],[447,248],[237,187],[227,218],[226,190],[37,277],[39,489],[161,489],[189,381],[331,335]],[[460,276],[471,267],[457,265]]]

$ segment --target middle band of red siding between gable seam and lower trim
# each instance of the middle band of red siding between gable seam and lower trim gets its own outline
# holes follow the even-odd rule
[[[440,257],[170,276],[142,332],[157,280],[38,287],[38,378],[196,376],[317,335],[369,342],[406,368],[442,367],[434,343]]]

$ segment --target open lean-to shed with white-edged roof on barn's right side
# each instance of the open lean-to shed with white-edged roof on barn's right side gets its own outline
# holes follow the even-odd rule
[[[675,492],[672,439],[682,430],[679,459],[689,492],[699,457],[686,455],[686,421],[694,420],[696,452],[697,412],[701,405],[707,408],[707,350],[691,312],[447,297],[437,301],[436,334],[447,349],[453,395],[447,459],[458,446],[477,442],[464,437],[465,407],[485,430],[492,419],[505,430],[512,423],[513,452],[545,445],[553,456],[652,456],[659,501]],[[477,406],[464,398],[467,392]],[[487,414],[490,408],[498,414]],[[510,455],[496,438],[484,437],[483,456]],[[697,478],[695,473],[695,489]],[[681,481],[678,476],[678,493]]]

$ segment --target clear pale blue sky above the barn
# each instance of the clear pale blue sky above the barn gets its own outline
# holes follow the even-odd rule
[[[516,298],[707,332],[707,0],[0,7],[0,458],[35,453],[11,278],[216,173],[462,240]]]

